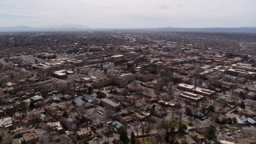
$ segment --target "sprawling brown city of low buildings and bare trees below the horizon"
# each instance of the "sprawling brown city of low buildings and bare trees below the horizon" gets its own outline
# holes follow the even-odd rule
[[[256,34],[0,34],[0,143],[256,142]]]

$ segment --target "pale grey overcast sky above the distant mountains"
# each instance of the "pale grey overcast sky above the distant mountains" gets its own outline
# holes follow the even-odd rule
[[[0,26],[256,26],[256,0],[0,0]]]

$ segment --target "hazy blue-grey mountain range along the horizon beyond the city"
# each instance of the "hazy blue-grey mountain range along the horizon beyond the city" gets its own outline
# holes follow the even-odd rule
[[[214,32],[214,33],[256,33],[256,26],[237,27],[237,28],[145,28],[145,29],[95,29],[88,26],[81,26],[76,24],[60,25],[60,26],[44,26],[44,27],[31,27],[31,26],[9,26],[0,27],[0,32],[35,32],[35,31],[85,31],[85,30],[125,30],[125,31],[170,31],[170,32]]]

